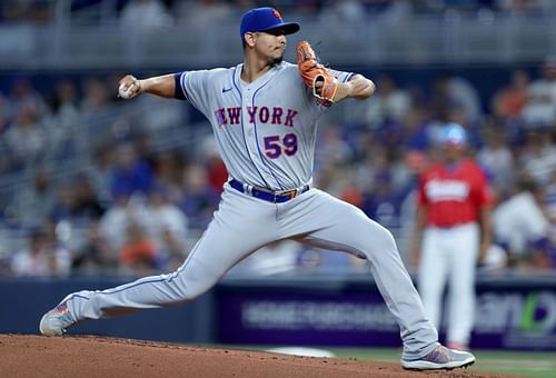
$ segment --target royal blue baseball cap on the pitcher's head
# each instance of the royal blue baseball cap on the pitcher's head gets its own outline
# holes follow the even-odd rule
[[[284,22],[280,12],[274,8],[255,8],[247,11],[241,18],[239,37],[244,40],[246,32],[269,31],[274,29],[281,29],[285,34],[292,34],[300,29],[300,26],[296,22]]]

